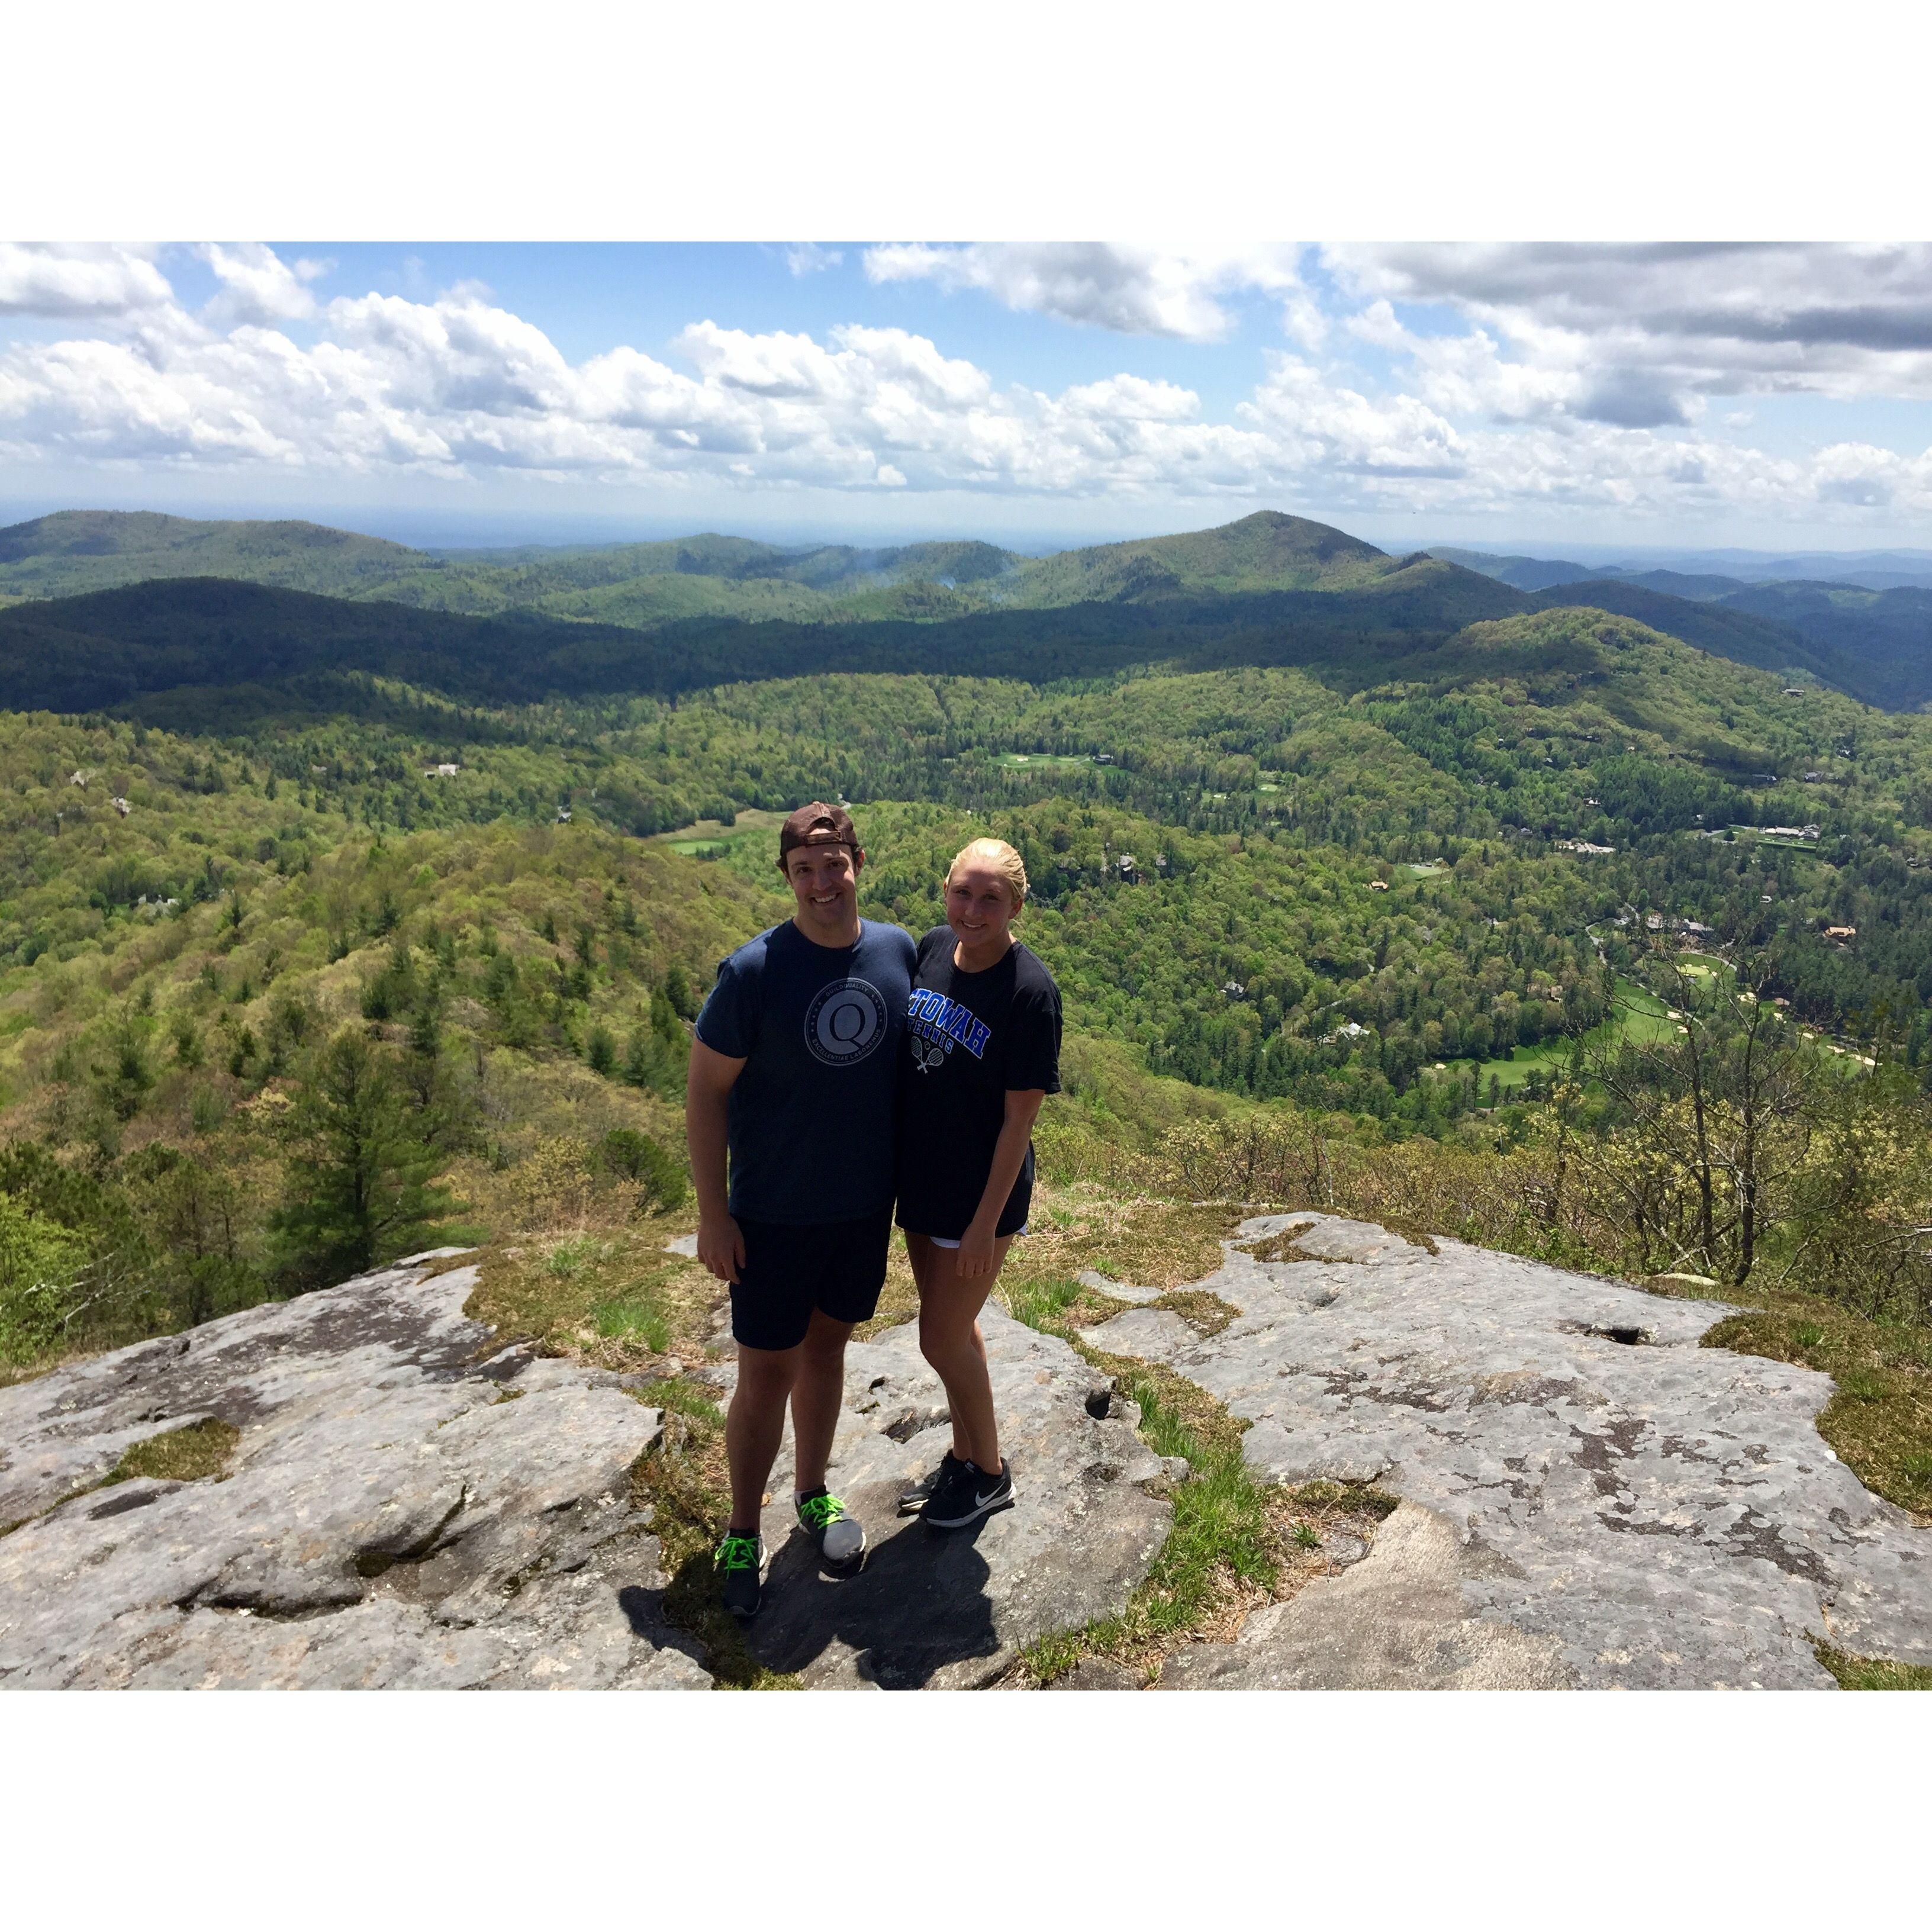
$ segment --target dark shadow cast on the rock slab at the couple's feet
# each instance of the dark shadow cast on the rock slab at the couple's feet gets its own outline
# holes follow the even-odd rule
[[[746,1644],[767,1669],[800,1671],[808,1683],[922,1690],[941,1675],[980,1681],[954,1665],[981,1658],[991,1671],[1005,1650],[993,1629],[991,1571],[974,1548],[999,1532],[999,1517],[966,1530],[908,1522],[856,1577],[827,1575],[813,1544],[792,1536],[773,1557]]]

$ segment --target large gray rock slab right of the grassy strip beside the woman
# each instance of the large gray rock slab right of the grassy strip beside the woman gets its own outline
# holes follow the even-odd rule
[[[1246,1457],[1269,1478],[1376,1478],[1426,1515],[1399,1513],[1397,1563],[1391,1519],[1345,1577],[1213,1646],[1248,1652],[1238,1665],[1190,1662],[1179,1681],[1329,1681],[1350,1658],[1368,1675],[1349,1681],[1484,1681],[1540,1669],[1551,1644],[1549,1669],[1577,1685],[1828,1687],[1814,1636],[1932,1662],[1932,1530],[1824,1445],[1830,1378],[1698,1347],[1725,1306],[1455,1240],[1432,1256],[1329,1215],[1254,1219],[1238,1238],[1291,1223],[1312,1223],[1298,1240],[1312,1260],[1231,1244],[1200,1283],[1242,1312],[1219,1335],[1155,1331],[1130,1310],[1092,1339],[1221,1399],[1252,1424]],[[1453,1578],[1428,1524],[1453,1532]],[[1405,1602],[1378,1611],[1391,1577]],[[1321,1652],[1308,1600],[1408,1634],[1376,1638],[1370,1621],[1352,1650],[1343,1631]],[[1432,1617],[1457,1633],[1437,1662],[1420,1636]],[[1468,1619],[1499,1634],[1478,1640]],[[1408,1656],[1408,1675],[1370,1671],[1374,1656]]]

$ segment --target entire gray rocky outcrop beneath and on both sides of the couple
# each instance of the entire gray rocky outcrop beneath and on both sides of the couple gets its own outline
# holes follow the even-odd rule
[[[1223,1252],[1196,1285],[1238,1310],[1217,1333],[1109,1285],[1134,1306],[1088,1335],[1215,1395],[1267,1478],[1403,1501],[1169,1658],[1163,1689],[1826,1687],[1814,1638],[1932,1662],[1932,1532],[1818,1437],[1828,1378],[1698,1347],[1723,1306],[1329,1215],[1248,1221]],[[0,1687],[709,1685],[632,1493],[661,1416],[498,1347],[464,1316],[473,1269],[437,1260],[0,1391]],[[945,1391],[914,1323],[854,1343],[833,1482],[871,1555],[821,1575],[786,1449],[746,1631],[771,1669],[997,1683],[1148,1575],[1184,1468],[1066,1343],[997,1308],[983,1327],[1018,1507],[898,1517],[947,1447]],[[209,1418],[238,1432],[220,1478],[108,1480]]]

